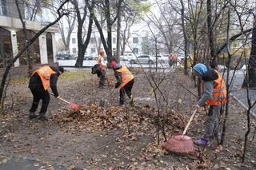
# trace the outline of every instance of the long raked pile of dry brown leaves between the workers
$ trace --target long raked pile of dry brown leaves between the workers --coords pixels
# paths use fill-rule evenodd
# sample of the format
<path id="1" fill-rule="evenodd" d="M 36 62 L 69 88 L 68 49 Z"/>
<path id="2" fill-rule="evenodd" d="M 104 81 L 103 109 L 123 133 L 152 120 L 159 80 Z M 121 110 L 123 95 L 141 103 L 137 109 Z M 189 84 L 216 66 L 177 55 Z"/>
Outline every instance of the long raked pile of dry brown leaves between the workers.
<path id="1" fill-rule="evenodd" d="M 155 131 L 158 111 L 149 105 L 100 107 L 97 103 L 82 105 L 80 111 L 64 111 L 66 114 L 55 115 L 58 124 L 72 124 L 76 130 L 98 131 L 113 128 L 125 129 L 129 132 Z M 160 114 L 171 132 L 181 132 L 188 117 L 178 113 Z M 168 131 L 168 130 L 167 130 Z"/>

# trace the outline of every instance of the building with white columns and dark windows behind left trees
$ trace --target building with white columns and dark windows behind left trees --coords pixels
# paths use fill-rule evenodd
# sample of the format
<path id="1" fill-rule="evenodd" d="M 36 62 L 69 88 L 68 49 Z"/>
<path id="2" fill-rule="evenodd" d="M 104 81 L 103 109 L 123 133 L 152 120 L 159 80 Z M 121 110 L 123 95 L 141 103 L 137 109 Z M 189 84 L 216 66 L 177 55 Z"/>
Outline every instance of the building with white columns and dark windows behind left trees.
<path id="1" fill-rule="evenodd" d="M 25 6 L 19 4 L 22 18 L 25 18 Z M 47 23 L 25 21 L 26 34 L 33 38 Z M 51 26 L 32 45 L 30 45 L 30 59 L 32 65 L 50 64 L 56 62 L 55 33 L 58 26 Z M 25 45 L 25 36 L 22 31 L 22 22 L 18 17 L 18 10 L 14 0 L 0 0 L 0 68 L 5 68 L 8 61 Z M 19 57 L 14 66 L 27 65 L 26 53 Z"/>

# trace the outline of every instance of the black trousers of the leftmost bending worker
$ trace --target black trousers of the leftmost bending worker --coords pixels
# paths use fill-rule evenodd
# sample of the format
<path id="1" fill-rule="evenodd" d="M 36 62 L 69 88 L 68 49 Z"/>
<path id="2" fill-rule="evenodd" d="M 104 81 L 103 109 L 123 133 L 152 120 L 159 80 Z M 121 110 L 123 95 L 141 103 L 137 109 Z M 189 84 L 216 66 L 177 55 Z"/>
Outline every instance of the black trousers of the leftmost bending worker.
<path id="1" fill-rule="evenodd" d="M 42 88 L 30 88 L 30 90 L 33 94 L 33 103 L 30 109 L 30 113 L 34 113 L 38 109 L 40 99 L 42 99 L 42 108 L 40 113 L 46 113 L 50 102 L 50 95 L 48 91 Z"/>

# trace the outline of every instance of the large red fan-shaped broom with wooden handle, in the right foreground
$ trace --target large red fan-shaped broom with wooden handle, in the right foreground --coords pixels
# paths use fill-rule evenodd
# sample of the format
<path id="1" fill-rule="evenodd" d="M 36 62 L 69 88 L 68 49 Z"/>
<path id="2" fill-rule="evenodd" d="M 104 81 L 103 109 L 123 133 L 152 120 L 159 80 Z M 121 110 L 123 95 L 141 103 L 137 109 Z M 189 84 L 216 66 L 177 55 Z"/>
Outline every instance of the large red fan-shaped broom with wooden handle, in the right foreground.
<path id="1" fill-rule="evenodd" d="M 167 140 L 162 144 L 162 148 L 165 148 L 167 151 L 179 153 L 182 155 L 192 155 L 194 154 L 194 143 L 190 136 L 185 136 L 187 129 L 190 126 L 191 121 L 193 120 L 193 117 L 195 113 L 197 113 L 198 109 L 194 110 L 194 113 L 190 117 L 190 121 L 186 125 L 186 128 L 184 129 L 182 135 L 178 134 L 175 136 L 172 136 L 170 140 Z"/>

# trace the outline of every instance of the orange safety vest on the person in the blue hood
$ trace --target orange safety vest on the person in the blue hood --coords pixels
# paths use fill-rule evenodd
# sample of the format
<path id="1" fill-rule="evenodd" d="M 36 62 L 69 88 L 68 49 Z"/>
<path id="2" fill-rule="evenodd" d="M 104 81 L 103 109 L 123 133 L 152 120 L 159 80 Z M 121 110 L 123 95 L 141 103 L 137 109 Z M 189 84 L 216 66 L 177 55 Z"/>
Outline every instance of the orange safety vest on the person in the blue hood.
<path id="1" fill-rule="evenodd" d="M 218 71 L 214 71 L 218 73 Z M 212 99 L 206 101 L 206 105 L 222 105 L 226 102 L 226 83 L 220 73 L 218 73 L 218 79 L 214 82 L 217 85 L 214 87 Z"/>

